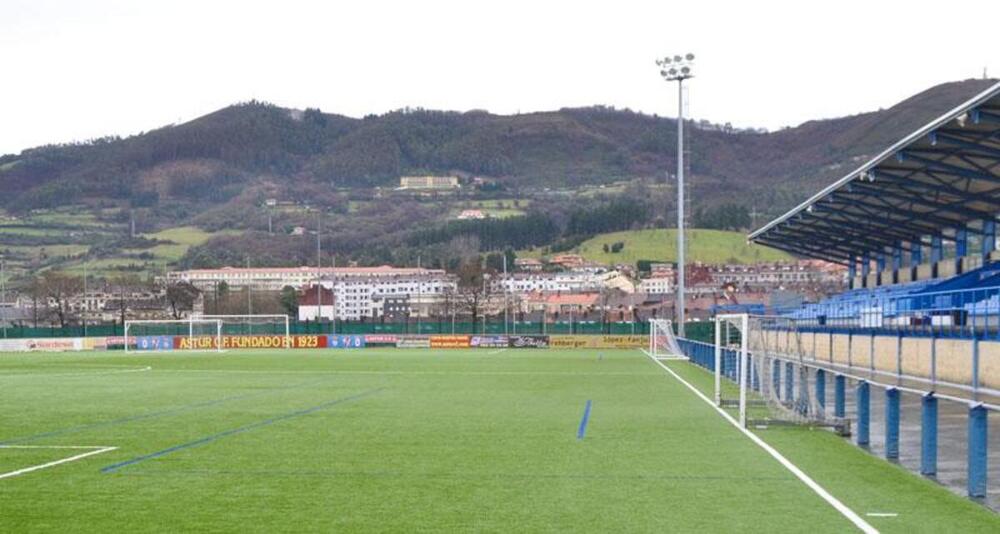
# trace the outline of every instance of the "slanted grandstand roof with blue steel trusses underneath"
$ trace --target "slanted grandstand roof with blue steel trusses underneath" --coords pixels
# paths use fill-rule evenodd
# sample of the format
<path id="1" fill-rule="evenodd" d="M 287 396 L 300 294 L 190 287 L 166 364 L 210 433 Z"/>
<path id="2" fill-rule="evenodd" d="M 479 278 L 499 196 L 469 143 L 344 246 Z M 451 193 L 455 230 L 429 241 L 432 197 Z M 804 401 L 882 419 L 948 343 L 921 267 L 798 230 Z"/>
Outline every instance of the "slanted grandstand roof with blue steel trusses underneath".
<path id="1" fill-rule="evenodd" d="M 904 137 L 749 239 L 794 254 L 850 263 L 1000 212 L 1000 83 Z"/>

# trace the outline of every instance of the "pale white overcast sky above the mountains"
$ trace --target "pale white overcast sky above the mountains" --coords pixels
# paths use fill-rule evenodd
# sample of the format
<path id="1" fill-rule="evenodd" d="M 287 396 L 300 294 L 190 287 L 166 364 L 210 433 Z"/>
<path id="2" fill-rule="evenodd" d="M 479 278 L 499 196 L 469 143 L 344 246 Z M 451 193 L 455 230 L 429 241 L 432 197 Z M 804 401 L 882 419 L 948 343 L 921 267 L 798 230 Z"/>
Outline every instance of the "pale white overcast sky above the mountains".
<path id="1" fill-rule="evenodd" d="M 753 5 L 751 5 L 753 4 Z M 0 154 L 252 98 L 350 116 L 593 104 L 780 128 L 1000 76 L 1000 2 L 0 0 Z"/>

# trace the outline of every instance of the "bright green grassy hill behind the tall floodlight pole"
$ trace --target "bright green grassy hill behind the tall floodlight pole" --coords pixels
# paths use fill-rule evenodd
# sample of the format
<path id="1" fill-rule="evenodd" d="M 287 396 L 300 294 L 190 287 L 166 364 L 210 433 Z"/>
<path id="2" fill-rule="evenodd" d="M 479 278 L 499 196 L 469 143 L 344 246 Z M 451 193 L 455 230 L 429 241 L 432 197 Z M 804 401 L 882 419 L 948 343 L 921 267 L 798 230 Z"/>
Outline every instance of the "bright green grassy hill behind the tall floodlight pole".
<path id="1" fill-rule="evenodd" d="M 780 250 L 748 244 L 746 235 L 722 230 L 693 229 L 687 232 L 687 261 L 703 263 L 754 263 L 789 260 Z M 611 252 L 616 243 L 624 244 L 620 252 Z M 607 249 L 605 248 L 607 247 Z M 633 230 L 594 236 L 572 252 L 584 258 L 608 265 L 635 265 L 639 260 L 677 261 L 676 230 Z M 542 250 L 519 252 L 518 255 L 538 257 Z"/>

